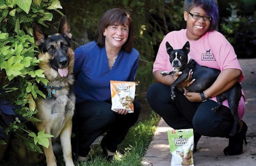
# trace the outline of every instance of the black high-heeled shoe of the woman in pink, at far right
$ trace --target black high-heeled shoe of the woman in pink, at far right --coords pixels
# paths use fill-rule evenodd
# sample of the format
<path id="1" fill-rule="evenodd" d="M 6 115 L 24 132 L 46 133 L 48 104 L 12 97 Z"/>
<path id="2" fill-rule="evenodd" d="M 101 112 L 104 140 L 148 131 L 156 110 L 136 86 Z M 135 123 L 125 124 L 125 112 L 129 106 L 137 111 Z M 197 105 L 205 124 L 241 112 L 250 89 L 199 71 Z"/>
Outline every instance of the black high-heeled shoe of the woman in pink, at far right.
<path id="1" fill-rule="evenodd" d="M 234 136 L 228 138 L 228 146 L 223 150 L 225 155 L 233 156 L 243 153 L 243 142 L 244 144 L 247 144 L 246 132 L 248 127 L 244 121 L 240 121 L 237 128 L 241 131 L 237 131 Z"/>

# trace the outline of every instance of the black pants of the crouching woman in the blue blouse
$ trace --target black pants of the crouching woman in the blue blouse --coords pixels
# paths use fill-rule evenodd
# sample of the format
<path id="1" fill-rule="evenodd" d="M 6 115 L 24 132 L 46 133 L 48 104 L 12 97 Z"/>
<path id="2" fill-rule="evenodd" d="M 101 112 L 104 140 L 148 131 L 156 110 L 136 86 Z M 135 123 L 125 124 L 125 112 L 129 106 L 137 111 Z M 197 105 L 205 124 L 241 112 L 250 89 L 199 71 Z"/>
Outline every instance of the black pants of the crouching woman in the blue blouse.
<path id="1" fill-rule="evenodd" d="M 127 115 L 111 110 L 111 102 L 76 103 L 72 130 L 76 136 L 72 138 L 72 150 L 79 156 L 87 156 L 94 140 L 106 132 L 102 141 L 109 151 L 115 152 L 129 128 L 138 120 L 140 110 L 136 98 L 134 113 Z"/>

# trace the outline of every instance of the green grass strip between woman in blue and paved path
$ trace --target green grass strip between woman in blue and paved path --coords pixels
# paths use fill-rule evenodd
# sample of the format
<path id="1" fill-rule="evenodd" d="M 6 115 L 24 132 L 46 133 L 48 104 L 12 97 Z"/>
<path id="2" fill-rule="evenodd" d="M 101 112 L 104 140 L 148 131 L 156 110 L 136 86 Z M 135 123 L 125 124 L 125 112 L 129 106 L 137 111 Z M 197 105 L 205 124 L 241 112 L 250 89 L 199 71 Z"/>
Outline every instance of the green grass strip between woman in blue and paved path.
<path id="1" fill-rule="evenodd" d="M 108 162 L 102 155 L 100 145 L 95 144 L 92 146 L 88 156 L 90 161 L 75 162 L 75 165 L 141 165 L 141 161 L 143 160 L 148 144 L 156 131 L 156 126 L 159 123 L 159 120 L 160 117 L 152 112 L 148 119 L 132 126 L 124 141 L 118 146 L 113 162 Z"/>

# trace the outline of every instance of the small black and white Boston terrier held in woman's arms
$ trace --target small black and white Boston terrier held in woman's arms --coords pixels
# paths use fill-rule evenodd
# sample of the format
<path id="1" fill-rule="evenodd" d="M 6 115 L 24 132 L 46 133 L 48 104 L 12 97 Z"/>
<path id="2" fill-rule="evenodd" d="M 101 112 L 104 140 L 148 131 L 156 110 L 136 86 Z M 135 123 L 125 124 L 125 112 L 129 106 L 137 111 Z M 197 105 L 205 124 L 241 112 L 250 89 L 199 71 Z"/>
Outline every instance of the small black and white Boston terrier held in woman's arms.
<path id="1" fill-rule="evenodd" d="M 181 82 L 188 78 L 189 70 L 192 69 L 192 79 L 195 79 L 195 82 L 193 82 L 191 86 L 186 87 L 186 90 L 189 92 L 200 93 L 202 101 L 205 102 L 207 99 L 205 98 L 205 94 L 203 92 L 205 89 L 210 87 L 217 79 L 218 75 L 220 74 L 220 70 L 200 66 L 198 63 L 196 63 L 195 60 L 189 57 L 189 49 L 189 41 L 185 43 L 182 49 L 173 49 L 170 43 L 168 43 L 168 41 L 166 42 L 166 51 L 170 56 L 170 63 L 173 66 L 173 72 L 182 72 L 182 74 L 179 75 L 179 77 L 173 82 L 172 86 L 170 87 L 171 97 L 172 100 L 175 98 L 175 87 L 177 87 L 177 85 L 179 85 Z M 163 72 L 162 74 L 173 74 L 173 72 Z M 179 91 L 181 92 L 183 91 L 183 89 L 180 89 L 178 87 L 177 89 L 179 89 Z M 237 82 L 231 89 L 225 91 L 225 93 L 223 94 L 216 96 L 218 106 L 212 108 L 212 111 L 217 111 L 218 108 L 221 106 L 221 103 L 226 99 L 228 100 L 230 111 L 234 117 L 234 126 L 230 135 L 234 135 L 237 130 L 237 123 L 239 120 L 237 115 L 237 107 L 242 95 L 241 89 L 241 84 Z"/>

